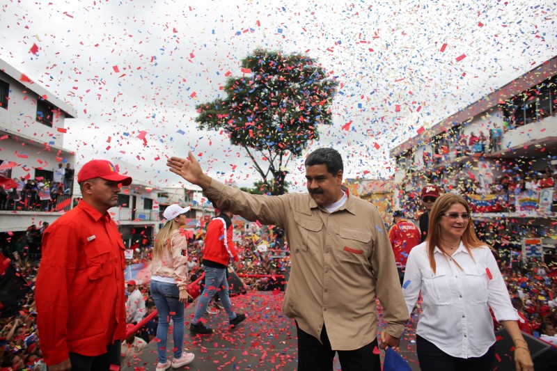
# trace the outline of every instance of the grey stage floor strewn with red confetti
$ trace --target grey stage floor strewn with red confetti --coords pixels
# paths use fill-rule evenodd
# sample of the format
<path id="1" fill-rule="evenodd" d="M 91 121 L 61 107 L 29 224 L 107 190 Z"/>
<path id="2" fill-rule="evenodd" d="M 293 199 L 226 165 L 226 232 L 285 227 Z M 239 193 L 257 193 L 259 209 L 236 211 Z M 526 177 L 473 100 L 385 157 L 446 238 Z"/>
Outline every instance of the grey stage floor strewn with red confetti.
<path id="1" fill-rule="evenodd" d="M 193 335 L 189 332 L 189 322 L 194 317 L 197 303 L 194 301 L 185 312 L 184 348 L 194 353 L 196 359 L 180 369 L 168 370 L 297 370 L 296 326 L 281 312 L 283 296 L 283 292 L 251 291 L 231 298 L 234 309 L 246 313 L 247 319 L 237 328 L 230 329 L 223 310 L 217 315 L 205 314 L 203 319 L 214 330 L 212 335 Z M 169 335 L 167 352 L 170 358 L 172 348 L 172 336 Z M 400 349 L 412 370 L 418 371 L 415 344 L 403 338 Z M 122 370 L 154 371 L 156 363 L 157 343 L 150 342 L 132 366 Z M 340 370 L 337 358 L 334 370 Z"/>

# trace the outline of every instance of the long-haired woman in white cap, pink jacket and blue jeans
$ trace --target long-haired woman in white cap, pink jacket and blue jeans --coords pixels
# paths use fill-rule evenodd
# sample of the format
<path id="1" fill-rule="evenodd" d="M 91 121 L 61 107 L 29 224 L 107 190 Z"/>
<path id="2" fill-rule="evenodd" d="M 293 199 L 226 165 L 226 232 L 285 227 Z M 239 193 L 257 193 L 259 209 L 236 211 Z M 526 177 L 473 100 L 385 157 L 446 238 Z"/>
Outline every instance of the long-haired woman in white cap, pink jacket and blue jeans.
<path id="1" fill-rule="evenodd" d="M 159 362 L 157 371 L 170 368 L 180 368 L 194 361 L 193 353 L 182 351 L 184 343 L 184 304 L 187 303 L 189 294 L 186 291 L 188 284 L 187 275 L 187 239 L 180 228 L 186 224 L 185 213 L 189 207 L 170 205 L 164 210 L 163 216 L 166 224 L 159 230 L 155 237 L 151 263 L 151 296 L 159 312 L 159 325 L 157 326 L 157 353 Z M 166 358 L 166 337 L 168 335 L 168 322 L 174 324 L 174 358 Z"/>

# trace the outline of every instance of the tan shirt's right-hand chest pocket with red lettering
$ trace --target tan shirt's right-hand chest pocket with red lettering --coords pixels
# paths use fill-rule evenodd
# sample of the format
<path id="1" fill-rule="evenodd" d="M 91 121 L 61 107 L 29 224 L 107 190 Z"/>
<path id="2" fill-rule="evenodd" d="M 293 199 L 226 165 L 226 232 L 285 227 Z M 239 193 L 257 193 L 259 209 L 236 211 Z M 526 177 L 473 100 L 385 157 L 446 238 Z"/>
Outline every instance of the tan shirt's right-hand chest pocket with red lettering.
<path id="1" fill-rule="evenodd" d="M 352 228 L 338 228 L 337 243 L 338 260 L 340 262 L 367 262 L 369 254 L 371 232 Z"/>

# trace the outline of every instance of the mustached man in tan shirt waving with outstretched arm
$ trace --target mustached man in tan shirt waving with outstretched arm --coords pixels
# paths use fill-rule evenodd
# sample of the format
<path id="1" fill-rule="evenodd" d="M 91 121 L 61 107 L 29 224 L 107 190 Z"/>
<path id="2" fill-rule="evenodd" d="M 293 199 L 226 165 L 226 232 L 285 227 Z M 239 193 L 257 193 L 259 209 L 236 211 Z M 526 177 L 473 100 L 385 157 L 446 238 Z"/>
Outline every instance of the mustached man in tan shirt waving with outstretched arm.
<path id="1" fill-rule="evenodd" d="M 283 228 L 292 267 L 283 312 L 295 319 L 299 371 L 381 370 L 377 307 L 384 308 L 382 349 L 398 348 L 409 319 L 389 235 L 377 209 L 342 186 L 343 160 L 331 148 L 305 162 L 308 193 L 251 195 L 205 175 L 194 155 L 167 166 L 219 208 Z"/>

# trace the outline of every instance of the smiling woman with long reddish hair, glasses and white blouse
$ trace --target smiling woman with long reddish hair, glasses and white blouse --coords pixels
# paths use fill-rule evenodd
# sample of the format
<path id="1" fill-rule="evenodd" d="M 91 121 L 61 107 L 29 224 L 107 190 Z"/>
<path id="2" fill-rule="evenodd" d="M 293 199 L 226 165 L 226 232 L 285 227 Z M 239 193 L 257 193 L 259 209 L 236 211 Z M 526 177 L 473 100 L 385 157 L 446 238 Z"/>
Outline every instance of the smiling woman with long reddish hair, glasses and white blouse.
<path id="1" fill-rule="evenodd" d="M 480 242 L 466 200 L 437 198 L 427 239 L 408 256 L 404 294 L 409 313 L 418 295 L 418 361 L 427 370 L 491 370 L 495 335 L 489 307 L 515 343 L 517 370 L 533 370 L 518 315 L 492 251 Z"/>

